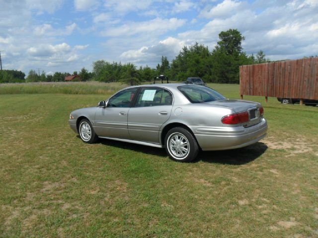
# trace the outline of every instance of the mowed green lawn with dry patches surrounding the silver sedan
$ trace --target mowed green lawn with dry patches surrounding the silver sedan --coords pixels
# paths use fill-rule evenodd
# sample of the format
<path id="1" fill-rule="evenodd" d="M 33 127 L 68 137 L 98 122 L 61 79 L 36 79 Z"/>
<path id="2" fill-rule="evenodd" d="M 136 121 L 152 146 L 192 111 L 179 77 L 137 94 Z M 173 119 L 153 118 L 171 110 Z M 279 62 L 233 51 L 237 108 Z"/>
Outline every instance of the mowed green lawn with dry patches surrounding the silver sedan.
<path id="1" fill-rule="evenodd" d="M 318 237 L 318 107 L 244 97 L 263 104 L 265 139 L 177 163 L 83 143 L 70 112 L 108 96 L 0 95 L 0 237 Z"/>

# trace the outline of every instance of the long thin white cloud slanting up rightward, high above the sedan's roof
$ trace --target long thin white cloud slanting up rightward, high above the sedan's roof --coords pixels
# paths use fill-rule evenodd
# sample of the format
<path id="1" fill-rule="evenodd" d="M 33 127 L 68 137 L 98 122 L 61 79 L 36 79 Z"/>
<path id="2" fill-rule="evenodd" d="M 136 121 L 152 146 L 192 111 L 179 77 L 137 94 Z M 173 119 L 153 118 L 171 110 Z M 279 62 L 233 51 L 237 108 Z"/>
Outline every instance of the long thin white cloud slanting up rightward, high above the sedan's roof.
<path id="1" fill-rule="evenodd" d="M 170 18 L 155 18 L 144 22 L 131 22 L 118 27 L 111 27 L 102 33 L 103 36 L 118 37 L 132 36 L 136 34 L 151 33 L 152 35 L 160 35 L 170 30 L 176 30 L 184 25 L 186 20 Z"/>

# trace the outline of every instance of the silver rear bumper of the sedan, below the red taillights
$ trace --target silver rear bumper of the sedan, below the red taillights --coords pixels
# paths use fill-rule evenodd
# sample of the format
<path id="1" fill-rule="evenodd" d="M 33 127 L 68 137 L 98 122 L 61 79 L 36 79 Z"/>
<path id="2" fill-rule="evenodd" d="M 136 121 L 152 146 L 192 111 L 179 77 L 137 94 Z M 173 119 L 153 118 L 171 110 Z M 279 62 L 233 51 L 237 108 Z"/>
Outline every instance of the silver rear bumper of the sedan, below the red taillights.
<path id="1" fill-rule="evenodd" d="M 229 150 L 254 144 L 264 138 L 267 122 L 262 119 L 260 123 L 250 127 L 190 126 L 190 128 L 203 151 Z"/>

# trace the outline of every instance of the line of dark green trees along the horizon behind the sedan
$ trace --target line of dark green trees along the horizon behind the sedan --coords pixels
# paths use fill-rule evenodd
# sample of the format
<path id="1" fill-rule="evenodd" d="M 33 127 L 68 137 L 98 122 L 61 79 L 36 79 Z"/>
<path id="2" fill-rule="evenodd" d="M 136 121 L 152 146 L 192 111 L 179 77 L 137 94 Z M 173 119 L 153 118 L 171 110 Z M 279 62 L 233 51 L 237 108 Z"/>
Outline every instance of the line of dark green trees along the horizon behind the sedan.
<path id="1" fill-rule="evenodd" d="M 72 75 L 79 75 L 81 81 L 123 82 L 131 85 L 152 81 L 161 74 L 167 76 L 169 80 L 176 81 L 183 81 L 187 77 L 201 77 L 206 82 L 239 83 L 240 65 L 269 62 L 261 50 L 255 56 L 248 56 L 243 52 L 241 43 L 244 37 L 237 29 L 222 31 L 219 38 L 220 41 L 212 51 L 198 43 L 184 46 L 171 63 L 167 57 L 162 56 L 156 68 L 149 66 L 137 68 L 133 63 L 97 60 L 93 62 L 92 72 L 82 68 L 79 73 L 75 71 Z M 22 79 L 24 73 L 21 71 L 17 72 L 22 74 L 15 72 L 14 75 L 13 72 L 6 71 L 16 70 L 2 70 L 0 82 L 24 81 L 25 75 Z M 65 77 L 70 75 L 67 72 L 47 75 L 44 71 L 39 75 L 35 70 L 30 70 L 25 82 L 59 82 L 65 81 Z"/>

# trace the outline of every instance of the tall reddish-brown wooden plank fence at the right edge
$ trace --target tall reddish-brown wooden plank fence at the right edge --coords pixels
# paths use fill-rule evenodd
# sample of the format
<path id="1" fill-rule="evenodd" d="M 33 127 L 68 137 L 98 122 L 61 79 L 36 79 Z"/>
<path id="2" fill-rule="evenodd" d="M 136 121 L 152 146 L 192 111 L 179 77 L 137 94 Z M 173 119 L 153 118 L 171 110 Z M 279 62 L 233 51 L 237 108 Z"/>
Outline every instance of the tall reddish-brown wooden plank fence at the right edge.
<path id="1" fill-rule="evenodd" d="M 318 100 L 318 58 L 239 67 L 243 95 Z"/>

